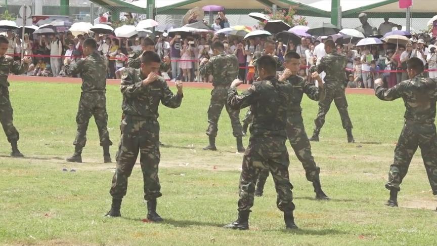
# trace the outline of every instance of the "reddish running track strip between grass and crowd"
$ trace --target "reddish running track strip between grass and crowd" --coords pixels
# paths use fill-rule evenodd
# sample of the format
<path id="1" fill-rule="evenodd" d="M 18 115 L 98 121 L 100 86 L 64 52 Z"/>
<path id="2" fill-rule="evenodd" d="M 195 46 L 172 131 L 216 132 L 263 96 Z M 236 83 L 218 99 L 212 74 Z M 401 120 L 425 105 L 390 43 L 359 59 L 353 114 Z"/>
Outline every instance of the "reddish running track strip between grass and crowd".
<path id="1" fill-rule="evenodd" d="M 69 77 L 37 77 L 37 76 L 19 76 L 11 75 L 9 76 L 9 81 L 20 81 L 20 82 L 42 82 L 42 83 L 70 83 L 70 84 L 81 84 L 82 80 L 80 78 L 69 78 Z M 120 79 L 107 79 L 108 85 L 120 85 Z M 168 82 L 169 86 L 173 86 L 173 82 Z M 206 88 L 212 89 L 211 83 L 199 83 L 199 82 L 184 82 L 184 87 L 188 88 Z M 239 88 L 247 89 L 249 85 L 241 85 Z M 363 95 L 374 95 L 373 89 L 355 89 L 346 88 L 346 94 L 363 94 Z"/>

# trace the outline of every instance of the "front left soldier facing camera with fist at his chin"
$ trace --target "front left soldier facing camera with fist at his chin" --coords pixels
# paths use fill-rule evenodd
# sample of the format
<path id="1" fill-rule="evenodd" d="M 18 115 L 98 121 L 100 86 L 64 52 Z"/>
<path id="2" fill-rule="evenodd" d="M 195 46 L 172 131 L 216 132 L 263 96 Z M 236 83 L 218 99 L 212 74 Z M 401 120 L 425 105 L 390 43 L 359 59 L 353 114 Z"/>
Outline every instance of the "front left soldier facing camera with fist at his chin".
<path id="1" fill-rule="evenodd" d="M 138 153 L 144 178 L 144 199 L 147 200 L 147 218 L 162 221 L 156 213 L 156 198 L 162 194 L 158 179 L 159 123 L 158 106 L 162 102 L 169 108 L 181 105 L 182 83 L 177 82 L 178 93 L 168 88 L 166 81 L 156 73 L 161 59 L 153 51 L 141 55 L 141 68 L 127 68 L 121 77 L 124 118 L 121 120 L 121 139 L 116 156 L 117 167 L 112 179 L 110 194 L 112 207 L 108 217 L 119 217 L 121 199 L 126 195 L 127 178 L 132 173 Z"/>

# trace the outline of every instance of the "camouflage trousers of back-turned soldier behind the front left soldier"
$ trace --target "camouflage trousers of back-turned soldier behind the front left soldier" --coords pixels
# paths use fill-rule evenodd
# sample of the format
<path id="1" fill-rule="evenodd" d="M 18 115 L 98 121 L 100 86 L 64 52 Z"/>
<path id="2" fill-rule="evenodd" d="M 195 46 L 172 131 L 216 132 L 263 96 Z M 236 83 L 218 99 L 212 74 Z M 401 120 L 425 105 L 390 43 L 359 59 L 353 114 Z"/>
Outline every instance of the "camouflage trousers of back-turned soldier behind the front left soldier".
<path id="1" fill-rule="evenodd" d="M 104 92 L 82 92 L 77 110 L 77 133 L 73 145 L 84 147 L 86 144 L 86 130 L 91 116 L 94 116 L 99 131 L 100 146 L 112 145 L 107 129 L 108 114 L 106 113 L 106 97 Z"/>

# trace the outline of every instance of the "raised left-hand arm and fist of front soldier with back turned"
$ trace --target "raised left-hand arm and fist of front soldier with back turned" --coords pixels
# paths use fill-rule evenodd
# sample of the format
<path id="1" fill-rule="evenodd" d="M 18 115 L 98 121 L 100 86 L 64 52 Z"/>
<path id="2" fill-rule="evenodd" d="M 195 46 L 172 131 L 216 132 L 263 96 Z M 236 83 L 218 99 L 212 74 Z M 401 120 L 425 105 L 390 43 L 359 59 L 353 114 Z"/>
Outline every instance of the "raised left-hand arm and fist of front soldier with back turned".
<path id="1" fill-rule="evenodd" d="M 228 91 L 228 105 L 232 109 L 241 109 L 248 107 L 253 104 L 254 99 L 256 99 L 256 88 L 252 85 L 249 89 L 238 95 L 237 87 L 243 84 L 240 79 L 235 79 L 232 82 L 231 88 Z"/>

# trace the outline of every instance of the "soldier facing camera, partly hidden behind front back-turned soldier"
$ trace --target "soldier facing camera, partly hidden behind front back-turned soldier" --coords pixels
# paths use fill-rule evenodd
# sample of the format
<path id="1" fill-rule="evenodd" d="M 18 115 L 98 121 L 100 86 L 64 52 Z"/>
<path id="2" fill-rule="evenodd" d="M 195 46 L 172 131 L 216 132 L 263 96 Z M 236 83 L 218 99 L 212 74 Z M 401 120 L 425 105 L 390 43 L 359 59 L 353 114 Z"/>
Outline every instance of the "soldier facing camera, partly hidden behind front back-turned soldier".
<path id="1" fill-rule="evenodd" d="M 322 79 L 319 74 L 315 72 L 313 77 L 319 80 L 319 88 L 314 84 L 305 81 L 301 76 L 296 75 L 299 71 L 300 56 L 294 51 L 288 52 L 285 55 L 285 67 L 284 73 L 279 80 L 286 81 L 293 87 L 291 94 L 290 106 L 287 114 L 287 137 L 290 141 L 290 145 L 294 150 L 297 158 L 302 162 L 303 169 L 307 180 L 313 183 L 314 192 L 316 193 L 316 199 L 329 199 L 323 192 L 320 184 L 320 168 L 317 167 L 314 157 L 311 154 L 311 145 L 308 140 L 305 127 L 303 126 L 302 108 L 300 102 L 302 101 L 303 94 L 314 100 L 319 101 L 325 98 L 325 89 L 322 83 Z M 264 185 L 266 184 L 267 177 L 269 177 L 268 171 L 259 173 L 259 177 L 256 184 L 255 196 L 263 195 Z"/>

